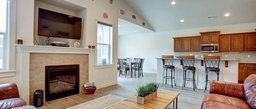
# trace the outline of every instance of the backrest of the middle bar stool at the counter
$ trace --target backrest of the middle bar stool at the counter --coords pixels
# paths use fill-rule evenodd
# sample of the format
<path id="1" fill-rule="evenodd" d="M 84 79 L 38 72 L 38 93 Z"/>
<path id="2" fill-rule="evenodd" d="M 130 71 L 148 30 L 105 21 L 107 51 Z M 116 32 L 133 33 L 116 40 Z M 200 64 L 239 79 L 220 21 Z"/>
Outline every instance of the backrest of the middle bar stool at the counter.
<path id="1" fill-rule="evenodd" d="M 195 56 L 194 55 L 182 55 L 181 56 L 181 60 L 182 60 L 182 66 L 184 67 L 194 67 L 194 63 L 195 63 Z"/>

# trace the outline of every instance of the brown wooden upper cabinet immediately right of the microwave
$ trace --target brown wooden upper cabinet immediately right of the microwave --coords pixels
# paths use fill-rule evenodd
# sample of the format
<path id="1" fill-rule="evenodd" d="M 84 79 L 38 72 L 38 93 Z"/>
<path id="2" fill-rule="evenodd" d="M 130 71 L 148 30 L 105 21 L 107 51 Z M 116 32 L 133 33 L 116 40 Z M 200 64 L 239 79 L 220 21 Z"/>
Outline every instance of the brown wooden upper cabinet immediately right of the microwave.
<path id="1" fill-rule="evenodd" d="M 219 36 L 219 52 L 229 52 L 231 50 L 230 35 Z"/>

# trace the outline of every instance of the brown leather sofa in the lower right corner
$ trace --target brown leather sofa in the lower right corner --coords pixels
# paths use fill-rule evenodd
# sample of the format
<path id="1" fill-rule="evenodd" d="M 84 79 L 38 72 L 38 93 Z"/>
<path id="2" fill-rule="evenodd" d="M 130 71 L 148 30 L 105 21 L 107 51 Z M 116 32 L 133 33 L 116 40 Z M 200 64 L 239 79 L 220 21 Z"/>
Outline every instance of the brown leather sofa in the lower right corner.
<path id="1" fill-rule="evenodd" d="M 201 109 L 256 108 L 256 74 L 249 75 L 244 84 L 211 81 L 210 93 L 203 98 Z"/>

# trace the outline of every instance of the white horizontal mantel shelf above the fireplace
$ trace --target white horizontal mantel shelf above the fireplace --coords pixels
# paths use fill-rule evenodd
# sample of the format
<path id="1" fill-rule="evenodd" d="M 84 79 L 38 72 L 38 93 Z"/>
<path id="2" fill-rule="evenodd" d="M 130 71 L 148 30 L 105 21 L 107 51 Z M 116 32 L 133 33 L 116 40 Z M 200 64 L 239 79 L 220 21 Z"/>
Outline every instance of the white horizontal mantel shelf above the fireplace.
<path id="1" fill-rule="evenodd" d="M 94 54 L 94 49 L 16 44 L 20 53 Z"/>

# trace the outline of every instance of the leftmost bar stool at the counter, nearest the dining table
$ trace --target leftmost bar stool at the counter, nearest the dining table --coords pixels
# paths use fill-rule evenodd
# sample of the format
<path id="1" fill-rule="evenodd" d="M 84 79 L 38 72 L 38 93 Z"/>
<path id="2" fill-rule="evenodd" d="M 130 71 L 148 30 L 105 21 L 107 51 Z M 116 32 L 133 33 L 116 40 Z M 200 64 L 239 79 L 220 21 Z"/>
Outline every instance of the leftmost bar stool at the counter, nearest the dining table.
<path id="1" fill-rule="evenodd" d="M 171 88 L 172 88 L 172 79 L 174 79 L 174 84 L 176 86 L 176 82 L 175 82 L 175 67 L 174 65 L 174 55 L 162 55 L 162 60 L 163 60 L 163 82 L 162 82 L 162 86 L 164 84 L 164 79 L 165 79 L 165 85 L 167 84 L 167 79 L 171 79 Z M 168 76 L 168 69 L 171 72 L 171 76 Z M 174 76 L 172 76 L 172 70 L 174 71 Z"/>

